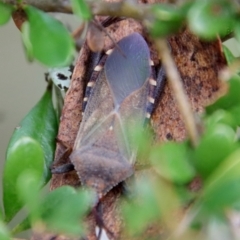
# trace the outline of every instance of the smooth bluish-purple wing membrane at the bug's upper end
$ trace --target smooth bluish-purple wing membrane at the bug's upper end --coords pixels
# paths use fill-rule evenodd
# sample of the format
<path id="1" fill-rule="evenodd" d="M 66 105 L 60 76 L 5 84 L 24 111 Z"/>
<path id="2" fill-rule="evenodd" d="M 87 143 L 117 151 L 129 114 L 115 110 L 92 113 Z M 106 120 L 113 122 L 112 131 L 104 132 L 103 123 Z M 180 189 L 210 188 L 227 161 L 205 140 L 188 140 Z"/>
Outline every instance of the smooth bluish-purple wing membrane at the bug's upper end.
<path id="1" fill-rule="evenodd" d="M 140 89 L 150 75 L 150 53 L 143 37 L 133 33 L 118 43 L 105 64 L 105 73 L 115 105 Z"/>

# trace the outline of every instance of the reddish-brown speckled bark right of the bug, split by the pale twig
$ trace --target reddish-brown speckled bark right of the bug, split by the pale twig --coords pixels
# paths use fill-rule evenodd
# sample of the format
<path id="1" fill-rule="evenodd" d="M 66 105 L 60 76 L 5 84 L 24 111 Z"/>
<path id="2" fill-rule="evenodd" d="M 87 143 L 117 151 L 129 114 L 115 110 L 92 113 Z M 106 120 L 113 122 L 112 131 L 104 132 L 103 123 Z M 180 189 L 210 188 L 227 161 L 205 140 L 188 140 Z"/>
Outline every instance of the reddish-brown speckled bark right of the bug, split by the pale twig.
<path id="1" fill-rule="evenodd" d="M 188 29 L 169 38 L 173 59 L 180 72 L 192 110 L 204 107 L 225 92 L 218 79 L 219 70 L 226 65 L 219 41 L 203 42 Z M 186 131 L 168 84 L 151 119 L 156 141 L 177 140 L 186 137 Z"/>

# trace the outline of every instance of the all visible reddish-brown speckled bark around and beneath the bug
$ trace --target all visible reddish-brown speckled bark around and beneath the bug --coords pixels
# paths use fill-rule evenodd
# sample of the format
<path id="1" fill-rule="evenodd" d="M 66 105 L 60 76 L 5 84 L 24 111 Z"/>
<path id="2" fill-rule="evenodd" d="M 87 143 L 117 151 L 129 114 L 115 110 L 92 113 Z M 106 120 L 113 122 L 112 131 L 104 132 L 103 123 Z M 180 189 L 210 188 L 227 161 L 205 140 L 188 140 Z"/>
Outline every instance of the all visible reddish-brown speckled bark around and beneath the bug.
<path id="1" fill-rule="evenodd" d="M 147 1 L 145 1 L 147 2 Z M 156 2 L 156 1 L 148 1 Z M 157 1 L 159 2 L 159 1 Z M 117 42 L 124 36 L 132 32 L 143 33 L 141 24 L 132 19 L 127 19 L 107 28 L 112 38 Z M 203 42 L 191 34 L 187 29 L 169 38 L 172 48 L 172 55 L 181 74 L 182 81 L 194 112 L 200 113 L 204 106 L 214 101 L 223 92 L 223 86 L 218 80 L 218 72 L 225 66 L 225 59 L 222 55 L 220 44 L 215 42 Z M 112 41 L 106 36 L 104 49 L 109 49 Z M 151 48 L 154 62 L 157 63 L 156 51 Z M 59 127 L 58 139 L 69 146 L 73 146 L 74 140 L 81 122 L 82 101 L 84 88 L 89 77 L 88 69 L 89 50 L 85 44 L 82 48 L 74 73 L 72 83 L 65 98 L 62 117 Z M 156 135 L 155 141 L 177 140 L 181 141 L 186 137 L 185 127 L 181 120 L 181 115 L 176 107 L 174 96 L 166 84 L 158 105 L 151 119 L 151 125 Z M 65 147 L 57 144 L 55 165 L 69 161 L 68 159 L 59 160 L 65 151 Z M 140 173 L 137 173 L 140 174 Z M 136 174 L 136 175 L 137 175 Z M 51 189 L 62 185 L 79 187 L 81 184 L 77 174 L 73 171 L 66 174 L 53 175 Z M 121 239 L 123 223 L 119 214 L 119 199 L 121 196 L 121 186 L 112 189 L 102 200 L 103 223 L 111 234 L 110 239 Z M 95 217 L 90 214 L 87 218 L 89 224 L 89 234 L 86 239 L 97 239 L 95 235 Z M 159 226 L 149 227 L 146 235 L 159 236 L 162 230 Z M 34 240 L 53 239 L 53 235 L 40 236 L 35 234 Z M 55 236 L 56 240 L 67 240 L 62 236 Z M 122 237 L 122 239 L 126 239 Z"/>

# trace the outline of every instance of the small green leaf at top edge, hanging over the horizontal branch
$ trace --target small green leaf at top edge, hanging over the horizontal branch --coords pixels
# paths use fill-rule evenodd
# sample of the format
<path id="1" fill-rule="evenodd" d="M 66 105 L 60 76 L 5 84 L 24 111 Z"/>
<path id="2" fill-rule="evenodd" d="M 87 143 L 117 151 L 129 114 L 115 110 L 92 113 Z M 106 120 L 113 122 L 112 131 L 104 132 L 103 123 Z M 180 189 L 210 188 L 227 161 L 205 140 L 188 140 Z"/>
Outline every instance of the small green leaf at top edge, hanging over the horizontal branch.
<path id="1" fill-rule="evenodd" d="M 80 19 L 89 21 L 92 19 L 90 8 L 84 0 L 71 0 L 73 12 L 80 17 Z"/>

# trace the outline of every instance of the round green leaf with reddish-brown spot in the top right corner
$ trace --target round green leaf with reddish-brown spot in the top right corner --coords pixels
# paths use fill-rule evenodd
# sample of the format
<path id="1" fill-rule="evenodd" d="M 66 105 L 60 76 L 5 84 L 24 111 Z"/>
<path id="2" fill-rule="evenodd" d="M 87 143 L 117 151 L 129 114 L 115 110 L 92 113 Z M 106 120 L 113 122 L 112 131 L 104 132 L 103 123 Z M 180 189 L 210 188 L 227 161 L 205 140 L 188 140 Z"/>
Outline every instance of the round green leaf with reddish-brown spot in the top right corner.
<path id="1" fill-rule="evenodd" d="M 228 0 L 195 1 L 188 12 L 188 24 L 193 33 L 214 39 L 232 31 L 234 14 L 233 4 Z"/>

